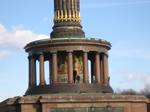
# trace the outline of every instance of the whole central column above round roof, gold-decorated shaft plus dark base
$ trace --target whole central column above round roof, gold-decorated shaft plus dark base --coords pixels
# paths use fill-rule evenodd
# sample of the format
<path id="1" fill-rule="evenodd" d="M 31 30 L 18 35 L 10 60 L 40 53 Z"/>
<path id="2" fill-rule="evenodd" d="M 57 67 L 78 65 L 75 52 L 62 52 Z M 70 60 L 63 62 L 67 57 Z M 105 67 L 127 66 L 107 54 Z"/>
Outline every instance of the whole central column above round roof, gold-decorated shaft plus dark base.
<path id="1" fill-rule="evenodd" d="M 54 0 L 54 27 L 51 38 L 85 38 L 80 23 L 80 0 Z"/>

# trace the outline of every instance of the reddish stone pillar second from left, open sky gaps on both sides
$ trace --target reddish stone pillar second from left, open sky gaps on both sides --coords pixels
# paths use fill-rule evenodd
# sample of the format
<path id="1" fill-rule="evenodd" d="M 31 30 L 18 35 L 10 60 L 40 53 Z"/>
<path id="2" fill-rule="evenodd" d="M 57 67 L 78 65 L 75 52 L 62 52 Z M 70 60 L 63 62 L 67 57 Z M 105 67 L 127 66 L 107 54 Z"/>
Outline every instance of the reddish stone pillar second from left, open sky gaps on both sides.
<path id="1" fill-rule="evenodd" d="M 40 54 L 40 85 L 45 85 L 45 76 L 44 76 L 44 55 Z"/>

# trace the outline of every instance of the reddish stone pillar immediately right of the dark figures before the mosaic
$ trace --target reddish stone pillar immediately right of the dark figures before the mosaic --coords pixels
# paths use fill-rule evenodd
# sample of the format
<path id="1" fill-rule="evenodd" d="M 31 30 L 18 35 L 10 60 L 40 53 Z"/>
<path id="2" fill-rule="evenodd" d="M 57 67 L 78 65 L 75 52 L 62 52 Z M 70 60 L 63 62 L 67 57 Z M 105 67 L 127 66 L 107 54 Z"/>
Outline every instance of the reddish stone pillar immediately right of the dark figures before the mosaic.
<path id="1" fill-rule="evenodd" d="M 88 53 L 83 53 L 83 82 L 88 83 L 89 77 L 88 77 Z"/>

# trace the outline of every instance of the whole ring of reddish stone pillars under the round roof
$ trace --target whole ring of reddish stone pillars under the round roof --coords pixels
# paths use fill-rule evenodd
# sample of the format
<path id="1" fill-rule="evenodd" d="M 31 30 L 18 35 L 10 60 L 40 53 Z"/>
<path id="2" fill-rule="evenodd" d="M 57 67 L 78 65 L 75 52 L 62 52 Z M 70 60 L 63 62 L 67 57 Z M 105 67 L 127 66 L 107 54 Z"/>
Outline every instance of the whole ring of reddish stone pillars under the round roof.
<path id="1" fill-rule="evenodd" d="M 73 52 L 67 52 L 68 57 L 68 83 L 73 83 Z M 90 55 L 90 56 L 89 56 Z M 92 56 L 91 56 L 92 55 Z M 58 75 L 57 66 L 57 52 L 49 53 L 49 74 L 50 84 L 56 84 Z M 92 58 L 89 58 L 92 57 Z M 38 55 L 30 55 L 29 59 L 29 87 L 37 86 L 36 61 L 39 61 L 39 85 L 46 85 L 45 71 L 44 71 L 44 53 Z M 107 53 L 83 52 L 83 83 L 89 83 L 89 66 L 88 60 L 91 61 L 91 83 L 98 83 L 102 85 L 108 84 L 108 55 Z"/>

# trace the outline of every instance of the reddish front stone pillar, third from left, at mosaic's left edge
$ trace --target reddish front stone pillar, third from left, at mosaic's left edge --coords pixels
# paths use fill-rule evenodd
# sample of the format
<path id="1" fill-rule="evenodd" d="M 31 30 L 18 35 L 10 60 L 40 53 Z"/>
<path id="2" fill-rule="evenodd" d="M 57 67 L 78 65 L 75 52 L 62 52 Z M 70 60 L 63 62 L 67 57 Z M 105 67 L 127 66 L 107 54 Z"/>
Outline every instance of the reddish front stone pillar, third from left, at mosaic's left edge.
<path id="1" fill-rule="evenodd" d="M 57 83 L 57 52 L 52 53 L 52 82 Z"/>

